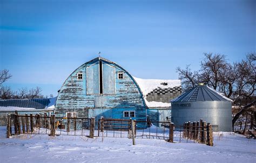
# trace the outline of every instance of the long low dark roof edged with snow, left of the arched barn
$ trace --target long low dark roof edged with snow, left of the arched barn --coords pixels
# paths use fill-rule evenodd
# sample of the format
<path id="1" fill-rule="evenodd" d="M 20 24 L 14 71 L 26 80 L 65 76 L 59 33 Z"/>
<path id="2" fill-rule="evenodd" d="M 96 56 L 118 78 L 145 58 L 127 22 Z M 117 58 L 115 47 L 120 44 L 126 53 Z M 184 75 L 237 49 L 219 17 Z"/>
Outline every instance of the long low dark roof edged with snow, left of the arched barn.
<path id="1" fill-rule="evenodd" d="M 0 110 L 53 109 L 57 97 L 42 99 L 8 99 L 0 100 Z"/>

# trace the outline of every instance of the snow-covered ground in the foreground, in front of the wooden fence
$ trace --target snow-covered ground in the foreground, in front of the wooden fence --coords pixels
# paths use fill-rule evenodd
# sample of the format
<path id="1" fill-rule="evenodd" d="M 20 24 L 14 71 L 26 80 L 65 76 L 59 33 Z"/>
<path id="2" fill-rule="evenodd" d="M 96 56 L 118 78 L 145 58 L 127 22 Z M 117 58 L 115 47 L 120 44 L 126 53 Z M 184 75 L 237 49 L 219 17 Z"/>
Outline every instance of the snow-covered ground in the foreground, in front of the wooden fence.
<path id="1" fill-rule="evenodd" d="M 255 162 L 256 140 L 214 133 L 214 146 L 156 139 L 21 134 L 6 139 L 0 127 L 0 162 Z M 223 135 L 221 135 L 223 134 Z"/>

